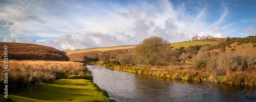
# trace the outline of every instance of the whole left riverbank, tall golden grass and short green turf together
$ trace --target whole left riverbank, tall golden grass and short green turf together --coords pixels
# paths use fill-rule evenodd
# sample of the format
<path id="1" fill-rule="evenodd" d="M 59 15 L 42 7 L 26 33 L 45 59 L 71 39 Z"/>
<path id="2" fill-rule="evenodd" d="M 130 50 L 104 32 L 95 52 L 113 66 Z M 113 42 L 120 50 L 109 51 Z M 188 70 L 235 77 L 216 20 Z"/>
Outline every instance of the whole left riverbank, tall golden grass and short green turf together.
<path id="1" fill-rule="evenodd" d="M 80 62 L 10 60 L 8 70 L 8 84 L 0 72 L 1 93 L 8 85 L 8 98 L 14 101 L 114 101 L 92 82 L 91 71 Z"/>

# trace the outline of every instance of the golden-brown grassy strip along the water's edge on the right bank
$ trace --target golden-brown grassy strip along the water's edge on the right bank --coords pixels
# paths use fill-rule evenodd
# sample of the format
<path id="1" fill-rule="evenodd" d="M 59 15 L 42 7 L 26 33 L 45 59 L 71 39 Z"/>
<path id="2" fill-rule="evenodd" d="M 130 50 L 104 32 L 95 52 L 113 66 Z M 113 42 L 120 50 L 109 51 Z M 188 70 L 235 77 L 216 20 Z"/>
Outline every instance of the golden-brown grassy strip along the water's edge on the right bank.
<path id="1" fill-rule="evenodd" d="M 162 78 L 172 78 L 187 81 L 204 81 L 210 83 L 237 84 L 256 86 L 256 74 L 248 71 L 230 72 L 228 75 L 215 75 L 206 68 L 198 69 L 189 63 L 173 63 L 169 66 L 114 66 L 107 67 L 104 64 L 94 65 L 108 69 L 121 70 L 139 74 L 154 75 Z M 255 72 L 252 70 L 252 72 Z"/>

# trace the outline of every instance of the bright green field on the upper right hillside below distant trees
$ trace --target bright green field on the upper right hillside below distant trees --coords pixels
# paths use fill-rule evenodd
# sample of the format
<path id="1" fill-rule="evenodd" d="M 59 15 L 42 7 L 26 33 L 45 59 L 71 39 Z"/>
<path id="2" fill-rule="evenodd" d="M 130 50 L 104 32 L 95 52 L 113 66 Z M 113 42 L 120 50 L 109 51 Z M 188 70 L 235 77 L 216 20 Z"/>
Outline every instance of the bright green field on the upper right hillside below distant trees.
<path id="1" fill-rule="evenodd" d="M 180 48 L 180 47 L 189 47 L 189 46 L 195 46 L 195 45 L 216 45 L 218 42 L 217 41 L 186 41 L 186 42 L 176 42 L 172 43 L 172 46 L 175 48 Z"/>

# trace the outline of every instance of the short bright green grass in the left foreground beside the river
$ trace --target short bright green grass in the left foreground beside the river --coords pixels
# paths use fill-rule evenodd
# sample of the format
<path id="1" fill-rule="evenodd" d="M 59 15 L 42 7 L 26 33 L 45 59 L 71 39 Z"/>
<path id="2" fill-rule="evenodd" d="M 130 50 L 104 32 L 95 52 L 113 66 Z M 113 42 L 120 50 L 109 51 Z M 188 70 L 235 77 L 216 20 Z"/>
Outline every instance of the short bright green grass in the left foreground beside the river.
<path id="1" fill-rule="evenodd" d="M 87 84 L 88 86 L 76 86 Z M 115 101 L 103 95 L 104 92 L 92 81 L 84 79 L 61 79 L 50 84 L 41 84 L 29 91 L 23 88 L 9 93 L 13 101 Z M 5 99 L 3 94 L 1 94 Z"/>

